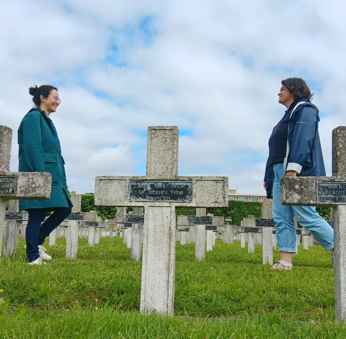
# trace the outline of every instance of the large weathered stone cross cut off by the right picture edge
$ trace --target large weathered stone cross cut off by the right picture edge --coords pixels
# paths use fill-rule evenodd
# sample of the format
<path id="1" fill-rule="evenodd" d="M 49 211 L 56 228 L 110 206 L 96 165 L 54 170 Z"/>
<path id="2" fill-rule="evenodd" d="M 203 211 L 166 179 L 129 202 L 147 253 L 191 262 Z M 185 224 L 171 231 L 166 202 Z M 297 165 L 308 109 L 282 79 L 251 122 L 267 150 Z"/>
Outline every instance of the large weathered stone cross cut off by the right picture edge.
<path id="1" fill-rule="evenodd" d="M 334 217 L 335 312 L 346 320 L 346 127 L 333 130 L 331 177 L 285 177 L 281 203 L 298 206 L 330 206 Z"/>

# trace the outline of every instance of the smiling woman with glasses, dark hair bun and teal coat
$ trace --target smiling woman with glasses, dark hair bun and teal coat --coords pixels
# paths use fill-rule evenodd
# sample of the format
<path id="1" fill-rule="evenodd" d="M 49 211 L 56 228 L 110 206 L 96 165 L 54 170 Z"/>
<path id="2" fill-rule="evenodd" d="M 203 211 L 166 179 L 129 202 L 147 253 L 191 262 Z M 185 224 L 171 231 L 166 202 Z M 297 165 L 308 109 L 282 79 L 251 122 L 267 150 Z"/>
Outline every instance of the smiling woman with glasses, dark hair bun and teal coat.
<path id="1" fill-rule="evenodd" d="M 44 239 L 70 215 L 72 202 L 66 188 L 60 141 L 49 118 L 61 103 L 57 88 L 30 87 L 35 108 L 23 118 L 18 129 L 19 172 L 48 172 L 52 175 L 49 200 L 20 200 L 19 210 L 29 212 L 26 226 L 27 263 L 42 265 L 51 260 L 42 246 Z M 47 212 L 53 212 L 45 221 Z"/>

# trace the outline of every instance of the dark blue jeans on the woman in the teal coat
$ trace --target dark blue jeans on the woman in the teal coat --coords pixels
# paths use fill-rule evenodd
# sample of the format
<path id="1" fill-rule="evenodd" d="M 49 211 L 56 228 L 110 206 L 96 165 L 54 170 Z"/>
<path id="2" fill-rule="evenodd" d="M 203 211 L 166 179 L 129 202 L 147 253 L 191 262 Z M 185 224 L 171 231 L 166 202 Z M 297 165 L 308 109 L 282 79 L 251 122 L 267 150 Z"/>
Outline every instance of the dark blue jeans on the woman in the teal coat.
<path id="1" fill-rule="evenodd" d="M 26 226 L 26 255 L 27 262 L 33 262 L 40 258 L 39 245 L 72 211 L 71 207 L 56 207 L 54 212 L 44 221 L 47 212 L 52 208 L 33 208 L 28 210 L 29 221 Z M 42 224 L 42 225 L 41 225 Z"/>

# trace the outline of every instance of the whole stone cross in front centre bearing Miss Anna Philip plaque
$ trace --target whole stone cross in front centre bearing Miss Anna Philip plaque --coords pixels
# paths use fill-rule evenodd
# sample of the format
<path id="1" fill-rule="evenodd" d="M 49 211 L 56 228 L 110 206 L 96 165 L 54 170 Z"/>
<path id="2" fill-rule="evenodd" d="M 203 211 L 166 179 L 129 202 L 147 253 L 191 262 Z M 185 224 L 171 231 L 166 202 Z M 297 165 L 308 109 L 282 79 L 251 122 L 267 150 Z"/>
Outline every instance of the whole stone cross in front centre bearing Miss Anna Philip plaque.
<path id="1" fill-rule="evenodd" d="M 173 314 L 175 207 L 228 204 L 227 177 L 178 176 L 179 131 L 148 127 L 146 176 L 95 179 L 95 205 L 144 207 L 140 311 Z"/>

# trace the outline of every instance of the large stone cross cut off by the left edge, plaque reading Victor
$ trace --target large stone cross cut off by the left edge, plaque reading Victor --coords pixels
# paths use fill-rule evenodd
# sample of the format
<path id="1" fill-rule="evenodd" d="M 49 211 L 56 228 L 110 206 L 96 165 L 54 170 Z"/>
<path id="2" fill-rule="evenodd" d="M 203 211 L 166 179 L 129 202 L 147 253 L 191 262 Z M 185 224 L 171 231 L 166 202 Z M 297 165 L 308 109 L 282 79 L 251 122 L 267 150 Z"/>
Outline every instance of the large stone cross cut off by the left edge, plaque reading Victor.
<path id="1" fill-rule="evenodd" d="M 6 199 L 49 199 L 51 174 L 10 172 L 12 129 L 0 126 L 0 228 L 5 219 Z"/>

